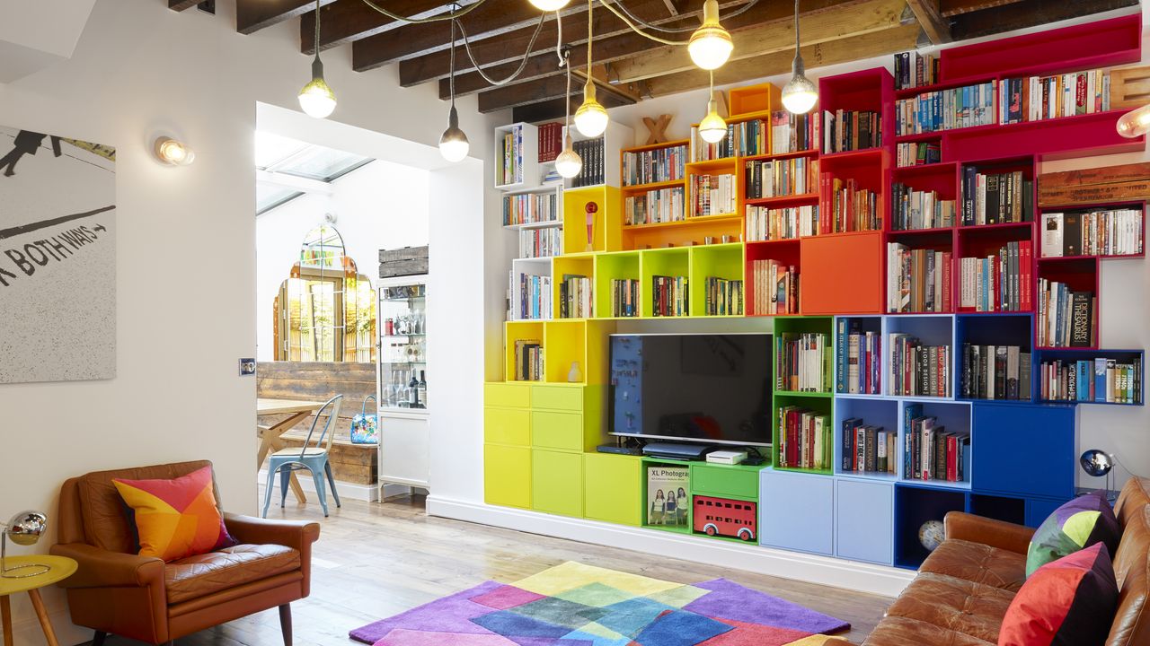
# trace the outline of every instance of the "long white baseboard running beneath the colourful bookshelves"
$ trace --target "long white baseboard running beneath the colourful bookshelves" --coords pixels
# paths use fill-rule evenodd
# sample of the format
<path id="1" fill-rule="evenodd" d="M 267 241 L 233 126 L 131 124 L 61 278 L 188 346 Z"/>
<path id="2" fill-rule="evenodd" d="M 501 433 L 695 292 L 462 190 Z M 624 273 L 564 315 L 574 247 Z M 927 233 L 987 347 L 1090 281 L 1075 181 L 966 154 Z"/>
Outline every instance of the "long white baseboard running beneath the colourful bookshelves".
<path id="1" fill-rule="evenodd" d="M 897 597 L 914 578 L 914 572 L 802 554 L 770 547 L 739 545 L 706 537 L 672 535 L 598 521 L 552 516 L 538 512 L 494 507 L 466 500 L 429 495 L 428 514 L 458 521 L 482 523 L 530 533 L 553 536 L 621 547 L 645 554 L 659 554 L 737 570 L 805 580 L 858 592 Z"/>

